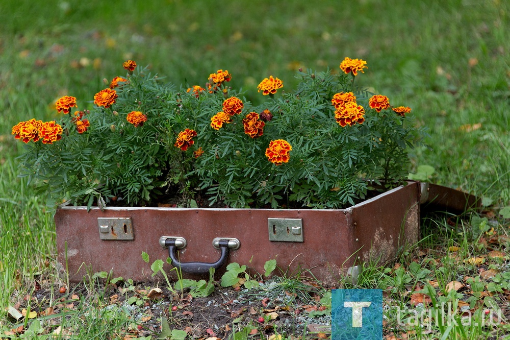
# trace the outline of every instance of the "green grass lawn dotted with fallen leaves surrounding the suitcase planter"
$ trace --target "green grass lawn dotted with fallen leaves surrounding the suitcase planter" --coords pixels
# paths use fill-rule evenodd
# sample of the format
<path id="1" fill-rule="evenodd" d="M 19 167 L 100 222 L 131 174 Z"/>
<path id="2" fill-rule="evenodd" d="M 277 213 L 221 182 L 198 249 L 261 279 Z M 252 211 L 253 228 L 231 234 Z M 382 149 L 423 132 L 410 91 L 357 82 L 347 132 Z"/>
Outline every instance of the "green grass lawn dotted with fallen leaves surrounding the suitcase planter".
<path id="1" fill-rule="evenodd" d="M 175 84 L 203 85 L 212 72 L 228 69 L 232 86 L 242 87 L 254 103 L 257 84 L 269 75 L 293 88 L 299 67 L 338 70 L 344 57 L 366 60 L 360 84 L 411 107 L 416 125 L 428 128 L 427 145 L 410 151 L 409 171 L 430 165 L 430 181 L 483 197 L 486 209 L 427 216 L 420 244 L 386 266 L 367 264 L 357 286 L 385 289 L 388 339 L 499 339 L 510 333 L 506 321 L 481 323 L 489 309 L 508 317 L 510 301 L 510 218 L 504 218 L 510 213 L 500 213 L 510 206 L 510 3 L 3 0 L 0 32 L 0 338 L 151 338 L 151 328 L 159 333 L 161 319 L 138 308 L 147 302 L 136 293 L 144 287 L 127 281 L 104 287 L 97 277 L 74 287 L 59 278 L 53 214 L 33 183 L 17 177 L 23 145 L 11 135 L 21 120 L 55 117 L 53 105 L 62 95 L 92 107 L 103 79 L 122 74 L 127 59 L 150 65 Z M 296 292 L 307 289 L 299 280 L 282 282 Z M 352 284 L 343 280 L 338 287 Z M 121 307 L 111 299 L 115 294 L 135 297 L 135 307 Z M 316 294 L 327 297 L 327 290 Z M 327 307 L 327 299 L 319 300 L 308 304 Z M 432 322 L 430 329 L 401 322 L 420 303 L 448 302 L 472 313 L 474 322 Z M 397 315 L 398 308 L 407 312 Z M 23 309 L 25 316 L 13 318 Z M 172 329 L 193 328 L 177 322 L 184 319 L 176 319 L 168 305 L 160 309 Z M 267 331 L 241 319 L 218 324 L 218 334 L 319 337 L 283 323 Z M 264 323 L 274 326 L 269 319 Z"/>

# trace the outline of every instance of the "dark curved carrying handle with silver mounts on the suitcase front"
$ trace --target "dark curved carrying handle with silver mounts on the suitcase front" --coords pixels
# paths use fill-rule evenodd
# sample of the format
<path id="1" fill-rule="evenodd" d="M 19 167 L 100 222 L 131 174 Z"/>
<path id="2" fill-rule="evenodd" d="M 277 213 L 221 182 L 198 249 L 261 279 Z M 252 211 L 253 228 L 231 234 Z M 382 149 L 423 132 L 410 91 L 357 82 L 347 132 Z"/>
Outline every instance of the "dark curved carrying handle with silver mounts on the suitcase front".
<path id="1" fill-rule="evenodd" d="M 221 250 L 220 258 L 213 263 L 208 262 L 181 262 L 177 260 L 175 257 L 175 250 L 186 247 L 186 240 L 184 240 L 183 247 L 183 238 L 182 237 L 168 237 L 164 239 L 164 242 L 160 240 L 161 246 L 168 247 L 168 255 L 172 260 L 172 265 L 176 268 L 179 268 L 181 271 L 189 274 L 207 274 L 209 273 L 210 268 L 218 269 L 223 265 L 227 256 L 229 249 L 238 249 L 240 244 L 239 240 L 236 238 L 220 238 L 217 237 L 213 240 L 213 246 L 216 249 Z"/>

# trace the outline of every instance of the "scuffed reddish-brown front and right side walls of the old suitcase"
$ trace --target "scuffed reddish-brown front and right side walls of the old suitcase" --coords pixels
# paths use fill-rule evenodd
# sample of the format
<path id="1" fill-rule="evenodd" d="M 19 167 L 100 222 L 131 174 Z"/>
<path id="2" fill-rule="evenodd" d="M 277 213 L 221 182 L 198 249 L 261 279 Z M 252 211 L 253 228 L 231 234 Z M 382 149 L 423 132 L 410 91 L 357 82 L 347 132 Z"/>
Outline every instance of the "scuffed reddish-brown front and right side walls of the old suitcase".
<path id="1" fill-rule="evenodd" d="M 311 269 L 318 279 L 334 284 L 351 266 L 369 259 L 389 260 L 401 246 L 418 240 L 420 195 L 420 183 L 412 182 L 341 210 L 92 208 L 87 212 L 85 207 L 63 207 L 55 214 L 58 261 L 74 282 L 87 271 L 112 271 L 113 277 L 140 281 L 151 277 L 154 260 L 166 260 L 169 255 L 160 245 L 162 236 L 185 239 L 186 247 L 177 253 L 181 262 L 215 262 L 220 251 L 213 247 L 213 239 L 231 237 L 240 246 L 228 254 L 229 263 L 246 264 L 263 273 L 264 263 L 274 258 L 279 268 Z M 101 233 L 108 233 L 105 217 L 130 221 L 132 231 L 129 224 L 117 222 L 114 234 L 125 228 L 133 239 L 131 235 L 101 239 Z M 274 218 L 300 223 L 279 225 L 280 220 L 268 220 Z M 282 237 L 276 232 L 288 232 L 292 240 L 274 240 Z M 143 261 L 142 252 L 149 255 L 149 263 Z M 166 270 L 170 269 L 167 264 Z"/>

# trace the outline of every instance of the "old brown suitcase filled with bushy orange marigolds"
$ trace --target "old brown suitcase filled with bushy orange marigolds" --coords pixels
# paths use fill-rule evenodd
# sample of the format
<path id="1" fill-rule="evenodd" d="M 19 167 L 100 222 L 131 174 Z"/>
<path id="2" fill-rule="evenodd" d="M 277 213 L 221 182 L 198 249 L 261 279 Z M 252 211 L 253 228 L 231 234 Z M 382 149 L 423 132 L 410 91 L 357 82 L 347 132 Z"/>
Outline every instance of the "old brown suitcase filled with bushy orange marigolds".
<path id="1" fill-rule="evenodd" d="M 14 126 L 27 147 L 24 173 L 54 206 L 68 204 L 55 215 L 62 269 L 71 281 L 96 272 L 145 280 L 145 252 L 170 257 L 184 275 L 227 262 L 261 272 L 276 259 L 334 282 L 416 242 L 420 201 L 433 195 L 418 182 L 398 185 L 420 130 L 411 108 L 355 85 L 366 64 L 300 69 L 294 91 L 269 76 L 251 89 L 257 104 L 228 86 L 227 70 L 205 87 L 176 87 L 128 60 L 125 78 L 96 93 L 90 111 L 65 95 L 58 122 Z M 143 207 L 172 200 L 192 208 Z M 236 209 L 193 208 L 210 205 Z"/>

